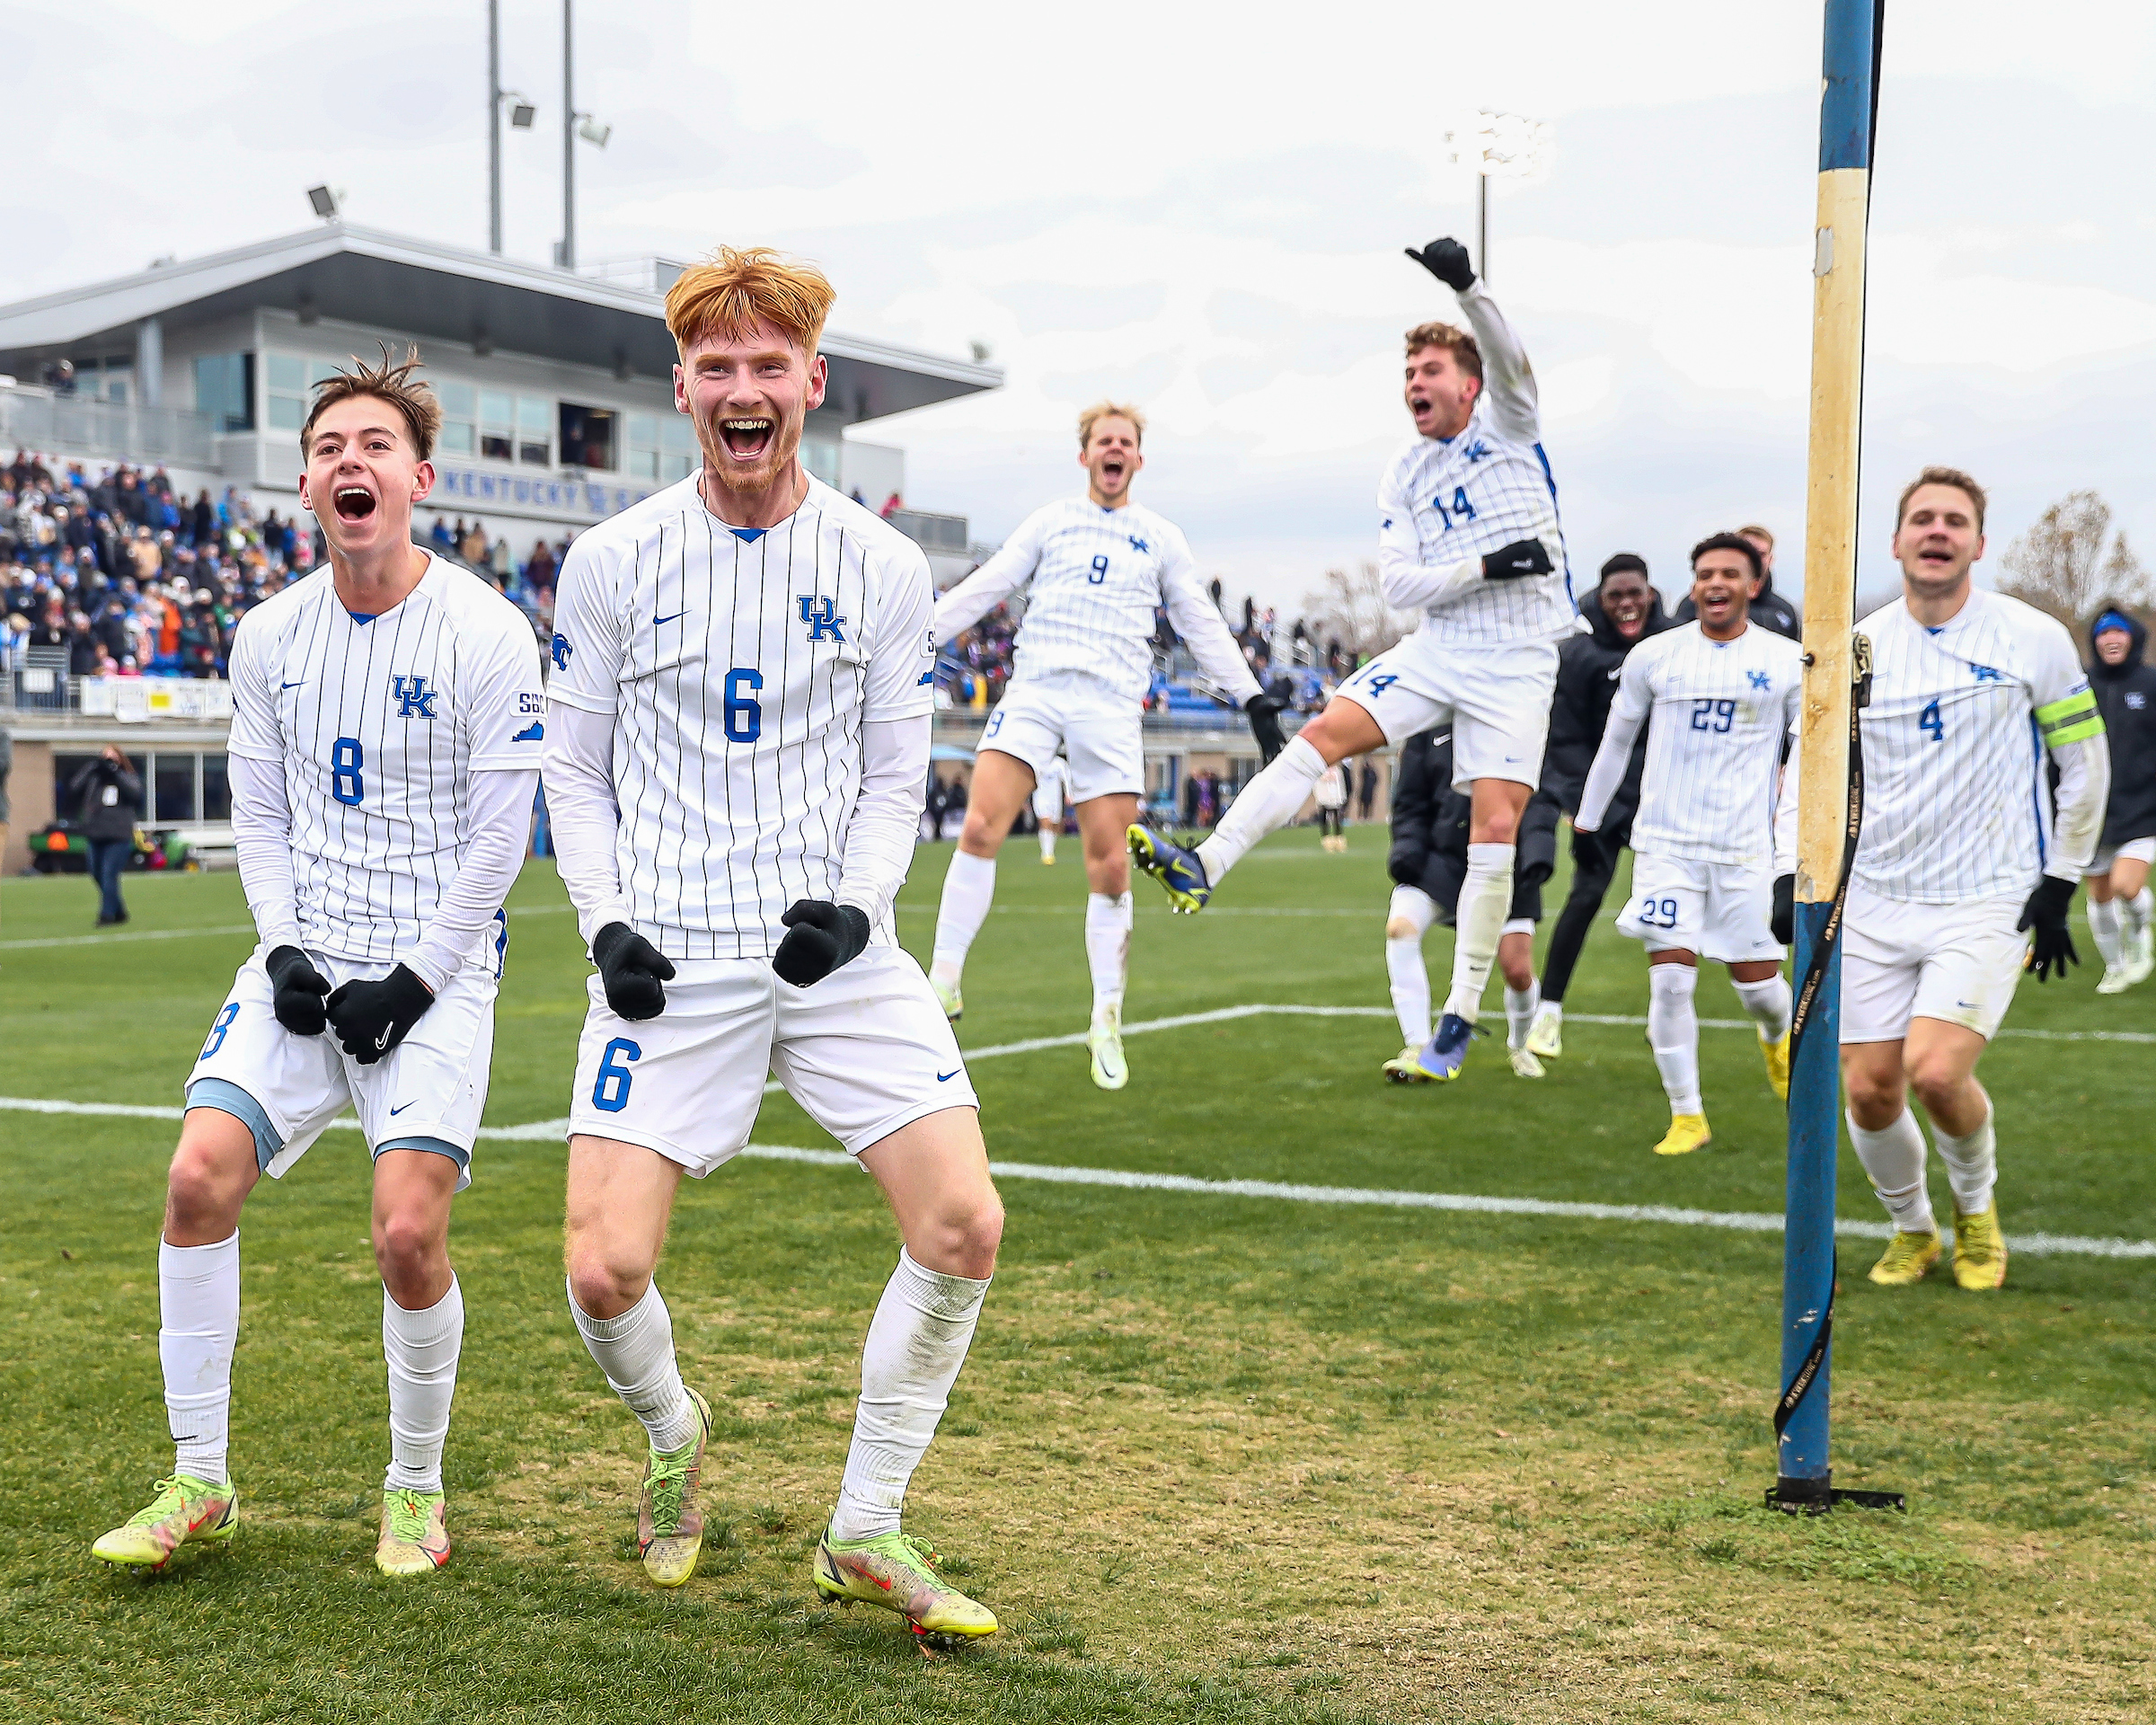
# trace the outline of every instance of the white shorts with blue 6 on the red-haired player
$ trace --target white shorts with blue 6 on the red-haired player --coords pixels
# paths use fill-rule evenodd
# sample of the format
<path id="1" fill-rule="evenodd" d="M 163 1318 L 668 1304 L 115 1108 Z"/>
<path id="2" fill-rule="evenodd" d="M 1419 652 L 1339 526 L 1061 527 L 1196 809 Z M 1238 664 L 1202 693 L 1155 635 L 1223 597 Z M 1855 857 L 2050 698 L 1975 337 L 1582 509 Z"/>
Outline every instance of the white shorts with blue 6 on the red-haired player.
<path id="1" fill-rule="evenodd" d="M 770 960 L 675 960 L 666 1011 L 630 1022 L 589 981 L 569 1136 L 655 1149 L 699 1179 L 731 1158 L 776 1078 L 854 1156 L 942 1108 L 979 1108 L 951 1022 L 901 947 L 869 947 L 813 988 Z"/>

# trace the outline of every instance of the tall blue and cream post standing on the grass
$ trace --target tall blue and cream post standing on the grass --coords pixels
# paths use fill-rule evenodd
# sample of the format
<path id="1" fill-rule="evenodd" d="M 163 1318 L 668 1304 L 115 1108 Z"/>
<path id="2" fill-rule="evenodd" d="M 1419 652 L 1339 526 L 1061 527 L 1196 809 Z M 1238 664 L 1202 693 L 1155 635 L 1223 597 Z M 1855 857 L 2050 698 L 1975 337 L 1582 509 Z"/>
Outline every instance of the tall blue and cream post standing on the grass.
<path id="1" fill-rule="evenodd" d="M 1789 1184 L 1783 1231 L 1781 1509 L 1833 1507 L 1828 1339 L 1835 1311 L 1835 1158 L 1841 1143 L 1843 852 L 1850 798 L 1850 673 L 1856 602 L 1856 455 L 1865 375 L 1865 220 L 1887 0 L 1826 0 L 1820 97 L 1820 224 L 1813 237 L 1811 459 L 1805 507 L 1805 701 L 1798 783 L 1798 1035 L 1789 1063 Z"/>

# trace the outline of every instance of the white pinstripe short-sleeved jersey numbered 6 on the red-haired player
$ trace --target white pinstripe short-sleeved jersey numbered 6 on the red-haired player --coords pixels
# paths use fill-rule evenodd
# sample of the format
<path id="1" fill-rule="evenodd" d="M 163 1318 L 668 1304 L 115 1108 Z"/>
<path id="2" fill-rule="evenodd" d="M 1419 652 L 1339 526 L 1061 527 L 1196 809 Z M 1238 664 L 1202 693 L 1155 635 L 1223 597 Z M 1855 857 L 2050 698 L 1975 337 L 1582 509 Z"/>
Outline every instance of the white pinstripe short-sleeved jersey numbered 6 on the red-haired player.
<path id="1" fill-rule="evenodd" d="M 778 526 L 729 528 L 696 474 L 569 546 L 552 701 L 614 716 L 614 858 L 668 957 L 770 957 L 796 899 L 834 899 L 860 727 L 929 722 L 929 565 L 817 479 Z"/>

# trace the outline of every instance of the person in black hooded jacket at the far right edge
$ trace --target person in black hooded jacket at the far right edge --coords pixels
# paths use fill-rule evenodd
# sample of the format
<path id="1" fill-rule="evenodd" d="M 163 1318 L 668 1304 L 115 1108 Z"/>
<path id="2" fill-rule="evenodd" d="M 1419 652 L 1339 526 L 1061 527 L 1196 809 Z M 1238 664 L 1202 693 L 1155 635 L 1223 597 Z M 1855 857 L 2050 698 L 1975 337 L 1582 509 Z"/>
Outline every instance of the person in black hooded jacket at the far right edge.
<path id="1" fill-rule="evenodd" d="M 2098 994 L 2124 994 L 2156 970 L 2150 862 L 2156 862 L 2156 668 L 2143 664 L 2147 630 L 2104 604 L 2089 625 L 2089 686 L 2111 740 L 2111 802 L 2089 860 L 2089 934 L 2104 955 Z"/>

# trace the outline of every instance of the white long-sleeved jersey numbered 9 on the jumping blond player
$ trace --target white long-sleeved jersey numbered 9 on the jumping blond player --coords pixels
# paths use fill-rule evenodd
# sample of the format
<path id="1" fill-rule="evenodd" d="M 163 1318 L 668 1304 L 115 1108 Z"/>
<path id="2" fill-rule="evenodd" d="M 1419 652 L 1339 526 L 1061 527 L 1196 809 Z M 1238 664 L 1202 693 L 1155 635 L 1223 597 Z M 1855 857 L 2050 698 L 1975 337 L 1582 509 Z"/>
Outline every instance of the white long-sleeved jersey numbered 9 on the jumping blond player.
<path id="1" fill-rule="evenodd" d="M 1184 530 L 1143 505 L 1065 498 L 1035 509 L 1003 550 L 942 595 L 936 638 L 955 638 L 1020 591 L 1026 615 L 1013 679 L 1074 671 L 1143 701 L 1153 681 L 1153 610 L 1166 606 L 1207 679 L 1238 705 L 1257 694 Z"/>

